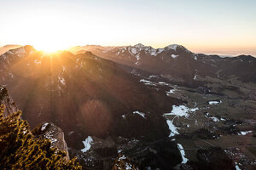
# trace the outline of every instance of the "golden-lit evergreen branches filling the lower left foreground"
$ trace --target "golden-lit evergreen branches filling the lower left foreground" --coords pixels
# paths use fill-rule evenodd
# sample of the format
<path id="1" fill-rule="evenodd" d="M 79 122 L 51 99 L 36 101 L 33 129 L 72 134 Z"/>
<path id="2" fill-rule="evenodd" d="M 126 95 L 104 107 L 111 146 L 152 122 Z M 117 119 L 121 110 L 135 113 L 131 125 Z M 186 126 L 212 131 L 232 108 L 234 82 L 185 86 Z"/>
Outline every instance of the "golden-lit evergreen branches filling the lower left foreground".
<path id="1" fill-rule="evenodd" d="M 3 117 L 0 107 L 0 169 L 82 169 L 66 152 L 52 148 L 49 139 L 37 139 L 21 111 Z"/>

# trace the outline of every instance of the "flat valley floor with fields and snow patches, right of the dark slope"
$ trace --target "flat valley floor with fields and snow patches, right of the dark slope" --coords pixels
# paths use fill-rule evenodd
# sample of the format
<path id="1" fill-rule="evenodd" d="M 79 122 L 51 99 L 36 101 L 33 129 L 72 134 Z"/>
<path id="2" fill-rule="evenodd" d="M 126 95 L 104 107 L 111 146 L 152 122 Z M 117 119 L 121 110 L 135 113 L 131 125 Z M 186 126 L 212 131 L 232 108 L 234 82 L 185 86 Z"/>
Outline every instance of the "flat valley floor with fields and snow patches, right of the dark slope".
<path id="1" fill-rule="evenodd" d="M 197 77 L 196 81 L 206 82 L 203 89 L 179 87 L 156 75 L 142 78 L 141 82 L 147 86 L 186 101 L 183 107 L 173 107 L 172 114 L 165 114 L 172 123 L 170 137 L 182 144 L 186 159 L 197 161 L 196 150 L 220 147 L 236 161 L 236 166 L 253 169 L 251 165 L 256 163 L 253 84 Z"/>

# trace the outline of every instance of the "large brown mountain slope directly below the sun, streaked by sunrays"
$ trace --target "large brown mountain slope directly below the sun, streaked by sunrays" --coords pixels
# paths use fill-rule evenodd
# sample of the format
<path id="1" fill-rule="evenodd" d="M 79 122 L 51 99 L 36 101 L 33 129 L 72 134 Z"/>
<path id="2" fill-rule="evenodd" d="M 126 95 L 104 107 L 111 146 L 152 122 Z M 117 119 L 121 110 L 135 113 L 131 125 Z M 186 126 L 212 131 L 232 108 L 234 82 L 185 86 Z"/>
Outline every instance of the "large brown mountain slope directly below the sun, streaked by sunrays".
<path id="1" fill-rule="evenodd" d="M 3 54 L 0 67 L 1 83 L 23 118 L 32 127 L 54 122 L 71 134 L 67 143 L 76 148 L 83 147 L 78 141 L 87 135 L 160 139 L 169 134 L 162 113 L 178 101 L 146 88 L 112 61 L 91 53 L 44 54 L 25 46 Z"/>

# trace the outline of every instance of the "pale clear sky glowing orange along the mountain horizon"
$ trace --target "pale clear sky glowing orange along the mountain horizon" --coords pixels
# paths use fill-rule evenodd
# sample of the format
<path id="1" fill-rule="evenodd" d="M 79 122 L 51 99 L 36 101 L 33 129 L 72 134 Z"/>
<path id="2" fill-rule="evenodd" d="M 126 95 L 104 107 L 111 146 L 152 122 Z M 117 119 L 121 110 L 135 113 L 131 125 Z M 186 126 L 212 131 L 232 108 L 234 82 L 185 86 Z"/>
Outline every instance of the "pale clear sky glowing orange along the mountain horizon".
<path id="1" fill-rule="evenodd" d="M 0 46 L 163 48 L 256 55 L 255 0 L 0 0 Z"/>

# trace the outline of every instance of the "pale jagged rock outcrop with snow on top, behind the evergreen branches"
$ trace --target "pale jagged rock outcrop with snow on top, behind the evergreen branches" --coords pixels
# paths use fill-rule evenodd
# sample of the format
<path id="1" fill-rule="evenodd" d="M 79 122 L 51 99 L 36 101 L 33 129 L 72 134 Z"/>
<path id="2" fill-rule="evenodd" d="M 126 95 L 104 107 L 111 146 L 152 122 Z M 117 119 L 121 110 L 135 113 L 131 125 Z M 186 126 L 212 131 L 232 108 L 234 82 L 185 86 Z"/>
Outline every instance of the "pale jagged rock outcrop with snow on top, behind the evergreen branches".
<path id="1" fill-rule="evenodd" d="M 67 143 L 64 139 L 64 133 L 60 127 L 55 126 L 55 124 L 52 122 L 44 122 L 35 127 L 32 130 L 32 133 L 36 137 L 49 139 L 51 142 L 51 147 L 65 151 L 67 153 L 67 160 L 69 160 Z"/>

